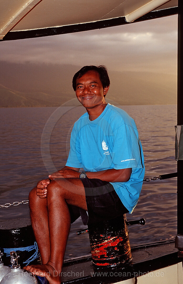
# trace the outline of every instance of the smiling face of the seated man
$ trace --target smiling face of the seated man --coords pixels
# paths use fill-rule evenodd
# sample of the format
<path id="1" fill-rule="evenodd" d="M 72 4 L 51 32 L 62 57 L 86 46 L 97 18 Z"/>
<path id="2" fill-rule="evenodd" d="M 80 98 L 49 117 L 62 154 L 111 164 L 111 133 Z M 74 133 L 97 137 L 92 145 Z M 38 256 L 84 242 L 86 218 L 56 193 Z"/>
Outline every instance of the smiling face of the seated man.
<path id="1" fill-rule="evenodd" d="M 103 88 L 98 72 L 91 70 L 76 80 L 76 97 L 85 108 L 105 103 L 109 87 Z"/>

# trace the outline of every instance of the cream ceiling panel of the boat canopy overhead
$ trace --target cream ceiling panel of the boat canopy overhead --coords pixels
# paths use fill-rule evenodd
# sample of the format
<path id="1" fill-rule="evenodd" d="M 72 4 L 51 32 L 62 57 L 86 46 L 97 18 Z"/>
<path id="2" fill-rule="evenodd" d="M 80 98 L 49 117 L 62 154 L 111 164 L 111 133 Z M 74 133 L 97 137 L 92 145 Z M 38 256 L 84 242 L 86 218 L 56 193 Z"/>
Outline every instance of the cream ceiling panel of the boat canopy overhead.
<path id="1" fill-rule="evenodd" d="M 68 26 L 127 16 L 162 0 L 0 0 L 0 38 L 7 32 Z M 176 7 L 178 0 L 158 9 Z M 157 10 L 158 10 L 157 9 Z"/>

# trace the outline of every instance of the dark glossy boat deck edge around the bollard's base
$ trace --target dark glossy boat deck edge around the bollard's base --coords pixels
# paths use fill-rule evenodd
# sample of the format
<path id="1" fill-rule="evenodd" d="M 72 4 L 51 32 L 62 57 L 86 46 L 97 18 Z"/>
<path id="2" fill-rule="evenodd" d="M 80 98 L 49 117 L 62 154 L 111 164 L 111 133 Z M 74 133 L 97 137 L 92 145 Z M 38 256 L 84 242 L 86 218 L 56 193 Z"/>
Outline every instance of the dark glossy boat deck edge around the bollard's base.
<path id="1" fill-rule="evenodd" d="M 123 268 L 96 269 L 92 265 L 91 255 L 66 260 L 64 262 L 63 283 L 90 284 L 115 283 L 134 276 L 144 275 L 153 270 L 161 269 L 178 262 L 177 249 L 174 241 L 162 241 L 138 247 L 132 247 L 132 264 Z"/>

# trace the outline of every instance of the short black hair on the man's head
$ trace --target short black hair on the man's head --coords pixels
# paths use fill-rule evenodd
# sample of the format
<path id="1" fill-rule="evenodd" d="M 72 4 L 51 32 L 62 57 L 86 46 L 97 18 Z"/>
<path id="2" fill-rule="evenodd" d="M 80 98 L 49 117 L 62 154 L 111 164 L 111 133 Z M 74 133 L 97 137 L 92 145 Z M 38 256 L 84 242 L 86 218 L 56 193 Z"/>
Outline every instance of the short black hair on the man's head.
<path id="1" fill-rule="evenodd" d="M 107 72 L 106 66 L 99 65 L 99 66 L 94 66 L 94 65 L 89 65 L 89 66 L 83 66 L 79 71 L 76 72 L 72 79 L 72 86 L 74 91 L 76 90 L 76 80 L 81 78 L 83 75 L 85 75 L 88 71 L 96 71 L 98 72 L 100 81 L 102 83 L 103 88 L 108 87 L 110 85 L 110 80 Z"/>

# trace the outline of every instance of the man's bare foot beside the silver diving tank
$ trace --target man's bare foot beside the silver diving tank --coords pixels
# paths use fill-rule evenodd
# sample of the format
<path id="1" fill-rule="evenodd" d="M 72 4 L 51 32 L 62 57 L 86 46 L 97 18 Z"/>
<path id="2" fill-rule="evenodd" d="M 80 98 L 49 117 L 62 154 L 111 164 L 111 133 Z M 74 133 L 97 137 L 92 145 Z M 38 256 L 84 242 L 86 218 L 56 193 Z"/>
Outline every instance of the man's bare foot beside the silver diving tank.
<path id="1" fill-rule="evenodd" d="M 46 277 L 46 279 L 49 281 L 49 284 L 60 284 L 61 282 L 61 271 L 55 269 L 49 263 L 28 265 L 23 267 L 23 269 L 30 271 L 34 275 Z"/>

